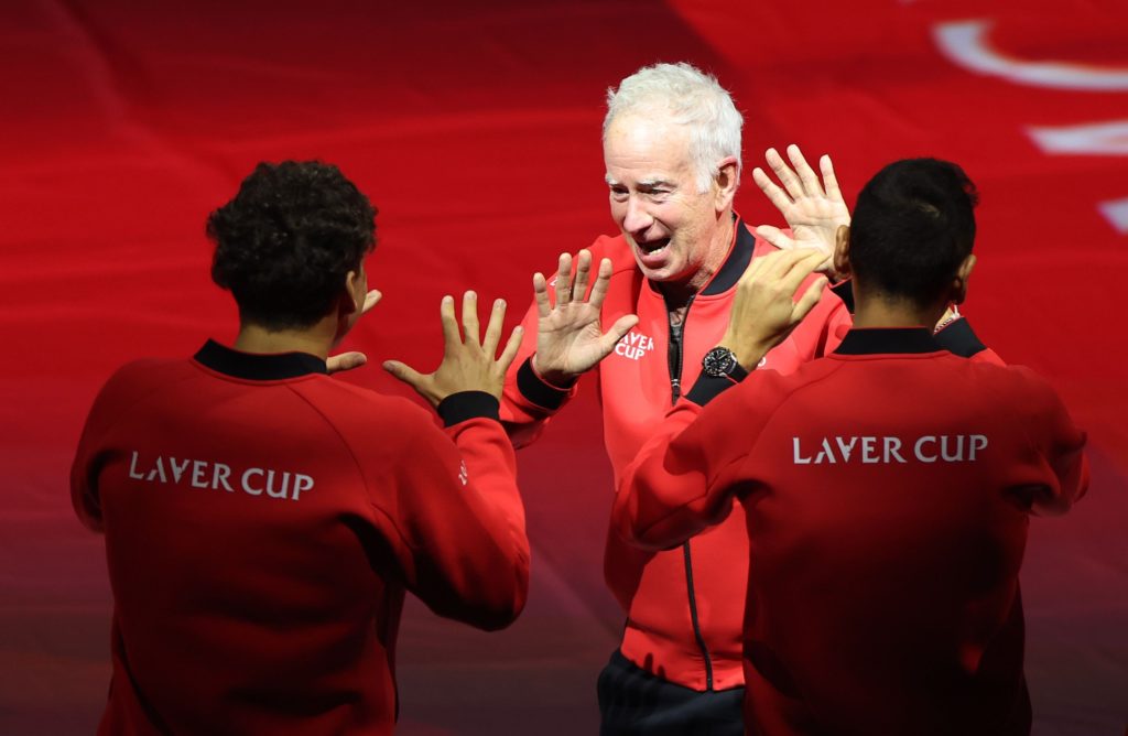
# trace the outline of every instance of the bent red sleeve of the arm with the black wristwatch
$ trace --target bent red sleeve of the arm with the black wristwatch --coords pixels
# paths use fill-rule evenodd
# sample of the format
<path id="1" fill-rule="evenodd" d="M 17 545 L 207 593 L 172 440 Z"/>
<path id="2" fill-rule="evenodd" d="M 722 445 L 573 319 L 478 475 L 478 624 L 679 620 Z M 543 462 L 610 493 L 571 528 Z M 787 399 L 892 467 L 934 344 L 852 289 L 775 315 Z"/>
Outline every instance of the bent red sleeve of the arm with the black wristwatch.
<path id="1" fill-rule="evenodd" d="M 778 405 L 777 378 L 752 374 L 707 408 L 675 405 L 623 474 L 611 523 L 624 538 L 670 549 L 728 517 L 755 483 L 744 461 Z"/>

